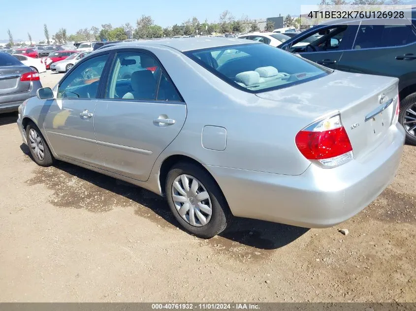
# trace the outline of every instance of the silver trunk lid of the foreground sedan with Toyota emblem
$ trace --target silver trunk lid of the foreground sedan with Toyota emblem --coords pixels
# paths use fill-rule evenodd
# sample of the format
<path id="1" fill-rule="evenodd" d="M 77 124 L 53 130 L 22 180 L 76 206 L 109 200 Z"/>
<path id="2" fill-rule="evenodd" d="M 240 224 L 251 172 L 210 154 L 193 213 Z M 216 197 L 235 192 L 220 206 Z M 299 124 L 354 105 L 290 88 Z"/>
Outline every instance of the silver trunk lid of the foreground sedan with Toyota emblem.
<path id="1" fill-rule="evenodd" d="M 340 113 L 354 158 L 359 159 L 373 151 L 387 135 L 398 102 L 398 79 L 335 71 L 304 84 L 256 95 L 328 109 L 326 115 L 311 114 L 311 123 Z"/>

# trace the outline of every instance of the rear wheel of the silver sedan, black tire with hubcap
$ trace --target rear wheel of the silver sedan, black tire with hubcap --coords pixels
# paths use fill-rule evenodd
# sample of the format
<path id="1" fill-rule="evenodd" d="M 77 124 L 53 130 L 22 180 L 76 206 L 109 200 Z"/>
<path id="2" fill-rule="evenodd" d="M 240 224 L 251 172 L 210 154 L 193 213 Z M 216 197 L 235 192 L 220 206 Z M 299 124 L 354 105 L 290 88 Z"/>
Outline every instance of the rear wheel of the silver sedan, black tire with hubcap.
<path id="1" fill-rule="evenodd" d="M 177 190 L 177 187 L 181 188 L 183 191 L 182 193 L 184 194 L 184 189 L 186 187 L 182 182 L 183 179 L 181 176 L 183 175 L 187 176 L 188 188 L 190 188 L 188 193 L 185 192 L 185 196 L 181 195 Z M 198 183 L 196 191 L 192 190 L 194 180 Z M 174 187 L 173 184 L 176 182 L 177 186 Z M 202 195 L 200 198 L 197 198 L 197 195 L 195 194 L 204 193 L 204 190 L 207 192 L 208 196 Z M 224 231 L 231 222 L 231 212 L 220 187 L 210 174 L 195 164 L 181 162 L 174 165 L 166 176 L 165 194 L 170 210 L 179 224 L 181 224 L 186 231 L 200 238 L 209 239 L 216 236 Z M 190 196 L 188 196 L 188 194 Z M 179 197 L 180 201 L 176 200 L 175 202 L 173 195 L 176 196 L 176 199 Z M 201 199 L 200 203 L 203 203 L 204 209 L 199 209 L 199 207 L 197 207 L 199 199 Z M 187 208 L 184 209 L 186 213 L 184 216 L 181 216 L 179 211 L 185 204 L 188 204 Z M 207 207 L 210 207 L 211 215 L 207 212 Z M 191 224 L 191 213 L 194 215 L 194 224 Z M 205 217 L 206 224 L 203 224 L 203 222 L 200 221 L 201 214 L 202 218 Z"/>

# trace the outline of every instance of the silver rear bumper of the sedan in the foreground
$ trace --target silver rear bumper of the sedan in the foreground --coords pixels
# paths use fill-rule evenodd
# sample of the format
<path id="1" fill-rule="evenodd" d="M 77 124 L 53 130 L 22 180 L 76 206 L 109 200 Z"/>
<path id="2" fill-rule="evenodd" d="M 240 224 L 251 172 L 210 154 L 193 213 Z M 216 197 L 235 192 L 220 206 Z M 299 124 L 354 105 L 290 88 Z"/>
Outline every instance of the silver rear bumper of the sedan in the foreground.
<path id="1" fill-rule="evenodd" d="M 365 159 L 333 169 L 311 165 L 298 176 L 206 166 L 235 216 L 303 227 L 329 227 L 377 198 L 401 160 L 405 131 L 397 123 Z M 278 160 L 277 160 L 278 161 Z"/>

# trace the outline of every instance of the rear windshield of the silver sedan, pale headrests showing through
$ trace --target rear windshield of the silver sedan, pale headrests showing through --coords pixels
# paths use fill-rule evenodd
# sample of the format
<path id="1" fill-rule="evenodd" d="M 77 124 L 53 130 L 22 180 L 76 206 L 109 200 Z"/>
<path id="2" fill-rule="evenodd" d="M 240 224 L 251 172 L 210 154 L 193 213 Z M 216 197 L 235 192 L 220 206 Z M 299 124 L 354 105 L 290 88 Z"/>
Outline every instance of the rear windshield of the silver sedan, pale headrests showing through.
<path id="1" fill-rule="evenodd" d="M 230 85 L 257 93 L 318 79 L 329 69 L 267 44 L 242 44 L 185 52 Z"/>

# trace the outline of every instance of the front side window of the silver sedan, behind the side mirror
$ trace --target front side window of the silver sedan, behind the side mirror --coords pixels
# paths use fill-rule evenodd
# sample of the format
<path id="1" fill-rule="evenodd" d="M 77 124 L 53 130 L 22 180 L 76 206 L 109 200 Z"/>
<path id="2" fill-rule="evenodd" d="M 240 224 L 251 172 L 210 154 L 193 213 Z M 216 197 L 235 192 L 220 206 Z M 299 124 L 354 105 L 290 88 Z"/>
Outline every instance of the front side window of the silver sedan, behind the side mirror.
<path id="1" fill-rule="evenodd" d="M 96 98 L 99 80 L 108 55 L 101 55 L 80 64 L 58 87 L 58 98 Z"/>

